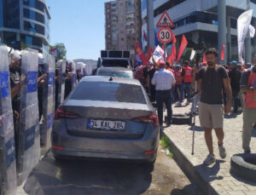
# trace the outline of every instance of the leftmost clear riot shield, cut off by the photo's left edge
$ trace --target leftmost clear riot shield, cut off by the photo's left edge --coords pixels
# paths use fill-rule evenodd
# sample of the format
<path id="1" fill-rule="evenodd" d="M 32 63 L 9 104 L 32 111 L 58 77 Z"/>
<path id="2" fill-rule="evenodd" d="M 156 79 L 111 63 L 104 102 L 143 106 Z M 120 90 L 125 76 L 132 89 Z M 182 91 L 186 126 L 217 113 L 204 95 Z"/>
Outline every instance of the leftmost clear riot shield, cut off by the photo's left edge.
<path id="1" fill-rule="evenodd" d="M 15 194 L 15 131 L 9 83 L 9 57 L 7 47 L 3 45 L 0 45 L 0 84 L 0 189 L 1 194 Z"/>

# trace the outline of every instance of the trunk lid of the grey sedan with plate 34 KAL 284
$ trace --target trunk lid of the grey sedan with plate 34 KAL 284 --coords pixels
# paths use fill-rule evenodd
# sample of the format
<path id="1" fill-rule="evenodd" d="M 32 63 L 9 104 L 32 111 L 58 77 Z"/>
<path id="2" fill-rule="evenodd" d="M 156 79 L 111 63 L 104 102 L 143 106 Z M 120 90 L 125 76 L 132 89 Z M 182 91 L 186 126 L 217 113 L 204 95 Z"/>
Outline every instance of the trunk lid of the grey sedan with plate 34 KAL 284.
<path id="1" fill-rule="evenodd" d="M 108 139 L 139 139 L 143 137 L 148 123 L 137 118 L 149 117 L 147 105 L 135 104 L 134 109 L 131 103 L 107 103 L 103 101 L 83 102 L 83 105 L 61 106 L 61 110 L 67 113 L 67 118 L 61 118 L 66 125 L 67 133 L 75 136 L 86 136 L 92 138 Z M 78 103 L 78 102 L 77 102 Z M 107 106 L 108 105 L 108 106 Z M 73 115 L 71 118 L 68 115 Z M 97 128 L 91 128 L 92 121 L 96 121 Z M 109 123 L 122 123 L 124 129 L 111 129 Z M 100 126 L 99 126 L 100 125 Z M 113 126 L 112 126 L 113 127 Z"/>

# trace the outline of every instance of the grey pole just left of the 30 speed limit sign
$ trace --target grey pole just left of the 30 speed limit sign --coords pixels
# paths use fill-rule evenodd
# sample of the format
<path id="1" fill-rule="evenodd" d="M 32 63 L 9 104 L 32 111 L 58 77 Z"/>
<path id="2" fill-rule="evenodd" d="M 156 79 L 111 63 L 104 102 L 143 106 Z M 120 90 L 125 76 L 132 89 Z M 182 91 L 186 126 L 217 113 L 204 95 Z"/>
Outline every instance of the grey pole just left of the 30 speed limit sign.
<path id="1" fill-rule="evenodd" d="M 148 28 L 148 48 L 154 48 L 154 3 L 147 0 L 147 28 Z"/>

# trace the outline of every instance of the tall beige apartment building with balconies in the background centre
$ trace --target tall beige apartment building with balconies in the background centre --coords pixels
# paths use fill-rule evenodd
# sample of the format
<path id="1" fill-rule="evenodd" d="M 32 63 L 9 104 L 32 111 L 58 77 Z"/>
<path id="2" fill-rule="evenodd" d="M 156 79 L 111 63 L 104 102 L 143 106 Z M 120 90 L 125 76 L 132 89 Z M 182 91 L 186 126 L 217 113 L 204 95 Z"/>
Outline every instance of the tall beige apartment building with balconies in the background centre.
<path id="1" fill-rule="evenodd" d="M 108 50 L 130 50 L 134 54 L 141 41 L 140 0 L 116 0 L 105 3 L 105 40 Z"/>

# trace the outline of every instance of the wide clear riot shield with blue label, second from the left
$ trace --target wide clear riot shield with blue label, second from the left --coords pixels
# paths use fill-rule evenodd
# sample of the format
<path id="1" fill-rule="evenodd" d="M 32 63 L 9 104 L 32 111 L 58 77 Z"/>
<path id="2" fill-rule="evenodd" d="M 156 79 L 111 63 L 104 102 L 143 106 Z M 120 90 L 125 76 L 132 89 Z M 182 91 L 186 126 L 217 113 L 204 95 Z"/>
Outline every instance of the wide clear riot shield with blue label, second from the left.
<path id="1" fill-rule="evenodd" d="M 20 130 L 17 159 L 18 184 L 22 184 L 40 158 L 38 115 L 38 51 L 22 51 Z M 22 82 L 24 80 L 24 82 Z"/>

